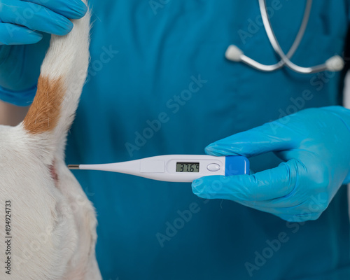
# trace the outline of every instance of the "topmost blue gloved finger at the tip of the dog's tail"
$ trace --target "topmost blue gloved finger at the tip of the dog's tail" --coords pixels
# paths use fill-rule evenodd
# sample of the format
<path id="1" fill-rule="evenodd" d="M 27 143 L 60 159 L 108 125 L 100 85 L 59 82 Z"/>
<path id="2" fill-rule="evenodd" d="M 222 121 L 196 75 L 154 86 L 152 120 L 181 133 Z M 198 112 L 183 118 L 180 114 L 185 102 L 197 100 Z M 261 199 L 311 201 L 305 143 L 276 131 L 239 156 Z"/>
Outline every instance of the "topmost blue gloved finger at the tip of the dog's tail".
<path id="1" fill-rule="evenodd" d="M 41 6 L 45 6 L 50 10 L 63 15 L 66 18 L 72 20 L 82 18 L 86 11 L 87 6 L 81 0 L 22 0 L 25 2 L 36 3 Z"/>

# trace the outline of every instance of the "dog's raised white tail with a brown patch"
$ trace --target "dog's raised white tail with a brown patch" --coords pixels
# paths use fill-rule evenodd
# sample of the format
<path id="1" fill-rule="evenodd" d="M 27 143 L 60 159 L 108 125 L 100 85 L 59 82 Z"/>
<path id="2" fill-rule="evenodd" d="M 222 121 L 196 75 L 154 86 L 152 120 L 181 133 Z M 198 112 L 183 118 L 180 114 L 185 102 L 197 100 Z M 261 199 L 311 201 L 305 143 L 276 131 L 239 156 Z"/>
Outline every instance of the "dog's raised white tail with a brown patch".
<path id="1" fill-rule="evenodd" d="M 56 151 L 51 152 L 62 151 L 62 155 L 87 76 L 90 11 L 72 22 L 74 27 L 68 35 L 51 37 L 41 65 L 36 97 L 23 121 L 29 134 L 45 134 L 53 140 Z"/>

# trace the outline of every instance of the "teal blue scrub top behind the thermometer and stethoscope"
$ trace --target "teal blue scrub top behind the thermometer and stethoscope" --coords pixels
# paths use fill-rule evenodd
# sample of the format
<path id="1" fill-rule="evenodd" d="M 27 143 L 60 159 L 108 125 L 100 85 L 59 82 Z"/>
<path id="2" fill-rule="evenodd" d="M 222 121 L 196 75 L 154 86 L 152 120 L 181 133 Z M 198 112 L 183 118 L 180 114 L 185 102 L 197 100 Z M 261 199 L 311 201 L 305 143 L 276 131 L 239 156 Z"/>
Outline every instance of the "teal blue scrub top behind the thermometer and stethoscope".
<path id="1" fill-rule="evenodd" d="M 270 0 L 285 52 L 305 1 Z M 228 62 L 235 44 L 258 62 L 277 57 L 258 1 L 90 0 L 91 64 L 66 162 L 120 162 L 203 154 L 231 134 L 309 107 L 340 104 L 342 75 L 262 73 Z M 314 66 L 342 54 L 349 1 L 314 1 L 293 57 Z M 254 172 L 275 167 L 251 158 Z M 349 216 L 342 187 L 317 221 L 287 223 L 228 200 L 202 200 L 190 183 L 74 172 L 97 209 L 104 279 L 350 279 Z"/>

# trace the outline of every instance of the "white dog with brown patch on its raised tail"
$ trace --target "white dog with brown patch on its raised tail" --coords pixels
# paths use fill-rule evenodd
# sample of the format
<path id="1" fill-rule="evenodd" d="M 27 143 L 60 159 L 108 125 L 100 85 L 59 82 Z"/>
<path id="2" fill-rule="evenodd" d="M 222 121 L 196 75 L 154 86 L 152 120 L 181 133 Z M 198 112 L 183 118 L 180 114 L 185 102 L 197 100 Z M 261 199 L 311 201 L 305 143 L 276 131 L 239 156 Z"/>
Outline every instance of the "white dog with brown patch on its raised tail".
<path id="1" fill-rule="evenodd" d="M 90 59 L 90 11 L 72 22 L 68 35 L 51 36 L 25 120 L 0 125 L 0 279 L 102 279 L 95 211 L 64 163 Z"/>

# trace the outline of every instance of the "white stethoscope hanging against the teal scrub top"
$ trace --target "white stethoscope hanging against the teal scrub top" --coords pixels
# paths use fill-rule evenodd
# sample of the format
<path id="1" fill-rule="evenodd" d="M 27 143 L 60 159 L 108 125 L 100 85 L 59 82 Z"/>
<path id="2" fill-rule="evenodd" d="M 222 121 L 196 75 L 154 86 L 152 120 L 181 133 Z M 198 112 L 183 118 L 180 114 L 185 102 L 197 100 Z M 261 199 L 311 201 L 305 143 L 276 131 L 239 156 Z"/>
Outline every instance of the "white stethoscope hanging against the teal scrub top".
<path id="1" fill-rule="evenodd" d="M 225 57 L 227 59 L 230 59 L 233 62 L 244 62 L 245 64 L 253 67 L 254 69 L 258 69 L 260 71 L 265 71 L 265 72 L 276 71 L 278 69 L 281 69 L 283 66 L 287 66 L 289 69 L 292 69 L 297 73 L 305 73 L 305 74 L 316 73 L 316 72 L 321 72 L 325 70 L 335 72 L 335 71 L 341 71 L 344 68 L 344 60 L 339 55 L 330 57 L 329 59 L 327 59 L 327 61 L 324 64 L 311 66 L 311 67 L 298 66 L 290 61 L 291 57 L 294 55 L 295 51 L 297 50 L 300 44 L 300 41 L 302 41 L 302 37 L 304 36 L 304 31 L 307 27 L 307 23 L 309 22 L 312 0 L 307 0 L 306 8 L 304 11 L 304 18 L 302 19 L 302 25 L 300 26 L 297 36 L 295 37 L 295 41 L 287 54 L 283 52 L 281 45 L 279 45 L 276 35 L 272 30 L 271 22 L 269 20 L 269 16 L 267 15 L 266 0 L 259 0 L 259 6 L 260 6 L 260 13 L 262 15 L 262 22 L 264 24 L 267 36 L 269 37 L 269 41 L 272 45 L 272 48 L 274 48 L 274 51 L 281 57 L 281 60 L 278 63 L 273 65 L 261 64 L 251 59 L 250 57 L 247 57 L 246 55 L 244 55 L 244 52 L 241 49 L 239 49 L 237 45 L 230 45 L 228 47 L 228 50 L 226 50 L 226 53 L 225 53 Z"/>

